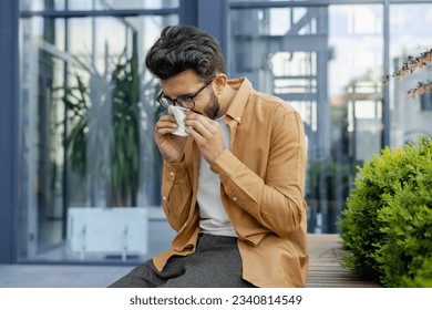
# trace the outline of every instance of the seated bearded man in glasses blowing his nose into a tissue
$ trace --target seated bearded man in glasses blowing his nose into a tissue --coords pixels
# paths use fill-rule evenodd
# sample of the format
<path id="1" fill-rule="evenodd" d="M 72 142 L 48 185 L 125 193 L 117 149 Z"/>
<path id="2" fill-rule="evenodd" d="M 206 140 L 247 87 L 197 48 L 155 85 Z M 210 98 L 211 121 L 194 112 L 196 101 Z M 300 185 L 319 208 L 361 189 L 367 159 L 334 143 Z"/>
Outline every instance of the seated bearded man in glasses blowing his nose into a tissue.
<path id="1" fill-rule="evenodd" d="M 162 204 L 172 248 L 111 287 L 305 287 L 308 269 L 306 143 L 282 100 L 227 80 L 219 44 L 167 27 L 146 55 L 158 103 L 186 107 L 155 125 L 164 157 Z"/>

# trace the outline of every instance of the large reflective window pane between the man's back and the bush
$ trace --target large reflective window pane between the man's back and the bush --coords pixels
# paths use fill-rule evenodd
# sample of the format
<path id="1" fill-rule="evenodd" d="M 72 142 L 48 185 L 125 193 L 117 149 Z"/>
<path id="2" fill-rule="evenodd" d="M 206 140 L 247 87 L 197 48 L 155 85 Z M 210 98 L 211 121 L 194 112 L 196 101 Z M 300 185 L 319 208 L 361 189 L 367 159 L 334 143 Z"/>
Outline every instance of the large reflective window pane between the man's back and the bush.
<path id="1" fill-rule="evenodd" d="M 232 10 L 230 74 L 302 115 L 308 229 L 336 232 L 356 165 L 380 149 L 383 10 L 298 6 Z"/>

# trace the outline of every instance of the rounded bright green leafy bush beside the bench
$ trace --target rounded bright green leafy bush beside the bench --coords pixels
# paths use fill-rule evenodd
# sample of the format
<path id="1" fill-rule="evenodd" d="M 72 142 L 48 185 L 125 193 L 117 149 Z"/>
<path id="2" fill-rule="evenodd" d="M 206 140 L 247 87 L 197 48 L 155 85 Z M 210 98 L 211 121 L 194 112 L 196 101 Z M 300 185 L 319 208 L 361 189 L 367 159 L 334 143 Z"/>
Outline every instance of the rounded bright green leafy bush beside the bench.
<path id="1" fill-rule="evenodd" d="M 432 287 L 432 141 L 388 147 L 358 169 L 339 221 L 342 264 L 385 287 Z"/>

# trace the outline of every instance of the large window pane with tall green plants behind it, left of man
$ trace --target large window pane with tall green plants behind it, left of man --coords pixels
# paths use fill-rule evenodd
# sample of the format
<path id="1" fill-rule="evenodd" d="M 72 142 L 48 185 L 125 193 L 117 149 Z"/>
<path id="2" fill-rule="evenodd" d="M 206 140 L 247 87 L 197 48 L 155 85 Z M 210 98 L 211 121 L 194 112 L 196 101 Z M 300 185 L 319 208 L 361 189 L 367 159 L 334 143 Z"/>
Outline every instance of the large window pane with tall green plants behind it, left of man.
<path id="1" fill-rule="evenodd" d="M 21 20 L 20 259 L 80 259 L 65 239 L 71 208 L 160 205 L 160 86 L 143 58 L 168 23 L 176 17 Z"/>

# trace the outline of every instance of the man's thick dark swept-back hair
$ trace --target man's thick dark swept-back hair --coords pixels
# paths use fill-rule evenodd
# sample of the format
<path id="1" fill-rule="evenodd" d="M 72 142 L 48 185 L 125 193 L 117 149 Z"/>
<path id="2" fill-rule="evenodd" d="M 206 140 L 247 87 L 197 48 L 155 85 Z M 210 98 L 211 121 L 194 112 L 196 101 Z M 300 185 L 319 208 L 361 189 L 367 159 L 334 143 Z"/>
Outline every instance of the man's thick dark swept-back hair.
<path id="1" fill-rule="evenodd" d="M 203 81 L 226 73 L 220 45 L 207 32 L 189 25 L 166 27 L 147 52 L 147 69 L 161 80 L 193 70 Z"/>

